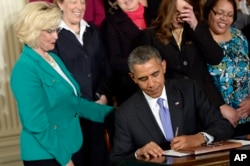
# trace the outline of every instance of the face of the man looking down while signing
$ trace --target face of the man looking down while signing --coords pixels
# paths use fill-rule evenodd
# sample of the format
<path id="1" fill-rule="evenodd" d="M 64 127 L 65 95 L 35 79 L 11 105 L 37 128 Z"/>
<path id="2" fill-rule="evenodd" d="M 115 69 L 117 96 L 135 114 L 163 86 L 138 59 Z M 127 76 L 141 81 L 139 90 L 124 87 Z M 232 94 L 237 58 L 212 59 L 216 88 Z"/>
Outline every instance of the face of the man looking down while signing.
<path id="1" fill-rule="evenodd" d="M 133 65 L 133 69 L 134 73 L 130 73 L 130 76 L 142 91 L 152 98 L 161 96 L 165 84 L 165 61 L 158 62 L 152 58 L 144 64 Z"/>

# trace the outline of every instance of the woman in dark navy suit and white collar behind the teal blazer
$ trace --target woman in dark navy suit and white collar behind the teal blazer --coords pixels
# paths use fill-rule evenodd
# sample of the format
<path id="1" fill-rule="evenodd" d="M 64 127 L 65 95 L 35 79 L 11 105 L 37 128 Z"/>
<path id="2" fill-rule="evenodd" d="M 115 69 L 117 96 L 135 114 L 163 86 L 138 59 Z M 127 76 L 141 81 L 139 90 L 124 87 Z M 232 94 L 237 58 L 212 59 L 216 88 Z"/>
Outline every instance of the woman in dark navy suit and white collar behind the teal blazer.
<path id="1" fill-rule="evenodd" d="M 107 104 L 110 67 L 97 27 L 86 22 L 84 0 L 54 0 L 62 11 L 58 40 L 53 50 L 78 82 L 81 97 Z M 89 110 L 92 111 L 92 110 Z M 75 165 L 107 166 L 108 150 L 102 123 L 80 119 L 84 143 L 73 156 Z"/>

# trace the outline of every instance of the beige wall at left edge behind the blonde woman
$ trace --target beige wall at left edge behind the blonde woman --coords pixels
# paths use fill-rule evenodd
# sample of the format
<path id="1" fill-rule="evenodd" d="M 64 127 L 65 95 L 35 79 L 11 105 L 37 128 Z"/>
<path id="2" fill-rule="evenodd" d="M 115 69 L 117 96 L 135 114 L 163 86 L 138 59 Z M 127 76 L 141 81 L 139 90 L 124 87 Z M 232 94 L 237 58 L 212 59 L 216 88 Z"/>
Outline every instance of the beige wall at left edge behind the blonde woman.
<path id="1" fill-rule="evenodd" d="M 13 23 L 27 0 L 0 0 L 0 166 L 21 166 L 19 152 L 20 124 L 9 77 L 20 51 Z"/>

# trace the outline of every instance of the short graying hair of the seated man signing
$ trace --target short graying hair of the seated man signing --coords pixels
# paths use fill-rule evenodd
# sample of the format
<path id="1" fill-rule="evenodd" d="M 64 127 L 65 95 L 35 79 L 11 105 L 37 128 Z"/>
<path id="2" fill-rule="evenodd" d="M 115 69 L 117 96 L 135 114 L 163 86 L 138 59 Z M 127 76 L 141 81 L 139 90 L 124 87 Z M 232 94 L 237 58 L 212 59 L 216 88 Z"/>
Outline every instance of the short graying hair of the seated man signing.
<path id="1" fill-rule="evenodd" d="M 161 63 L 162 58 L 159 51 L 149 45 L 139 46 L 135 48 L 128 57 L 128 67 L 130 72 L 134 72 L 133 65 L 135 64 L 144 64 L 150 59 L 156 58 L 156 60 Z"/>

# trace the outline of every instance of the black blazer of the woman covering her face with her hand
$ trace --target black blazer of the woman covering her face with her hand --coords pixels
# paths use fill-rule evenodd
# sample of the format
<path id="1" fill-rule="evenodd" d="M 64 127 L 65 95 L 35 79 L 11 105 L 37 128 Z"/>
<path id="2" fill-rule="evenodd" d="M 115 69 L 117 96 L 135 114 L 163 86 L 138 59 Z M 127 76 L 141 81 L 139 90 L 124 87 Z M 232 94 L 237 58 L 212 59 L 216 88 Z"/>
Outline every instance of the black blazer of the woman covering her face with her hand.
<path id="1" fill-rule="evenodd" d="M 210 76 L 207 64 L 219 64 L 223 58 L 223 51 L 213 40 L 207 24 L 199 23 L 192 31 L 188 26 L 184 27 L 181 50 L 174 38 L 165 45 L 156 37 L 157 28 L 144 31 L 141 44 L 148 44 L 160 52 L 167 61 L 167 79 L 192 79 L 202 87 L 209 100 L 216 106 L 224 104 L 219 91 Z"/>

